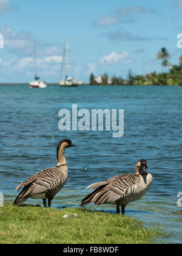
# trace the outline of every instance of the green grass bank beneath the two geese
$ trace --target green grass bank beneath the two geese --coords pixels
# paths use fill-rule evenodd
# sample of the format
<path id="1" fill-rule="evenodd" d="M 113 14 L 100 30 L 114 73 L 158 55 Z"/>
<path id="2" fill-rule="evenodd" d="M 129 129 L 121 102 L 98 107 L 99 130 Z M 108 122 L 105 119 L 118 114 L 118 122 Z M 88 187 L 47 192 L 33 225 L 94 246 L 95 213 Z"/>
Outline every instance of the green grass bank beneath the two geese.
<path id="1" fill-rule="evenodd" d="M 76 213 L 78 217 L 70 215 Z M 63 218 L 67 214 L 68 218 Z M 0 243 L 152 243 L 160 231 L 127 216 L 79 208 L 0 207 Z"/>

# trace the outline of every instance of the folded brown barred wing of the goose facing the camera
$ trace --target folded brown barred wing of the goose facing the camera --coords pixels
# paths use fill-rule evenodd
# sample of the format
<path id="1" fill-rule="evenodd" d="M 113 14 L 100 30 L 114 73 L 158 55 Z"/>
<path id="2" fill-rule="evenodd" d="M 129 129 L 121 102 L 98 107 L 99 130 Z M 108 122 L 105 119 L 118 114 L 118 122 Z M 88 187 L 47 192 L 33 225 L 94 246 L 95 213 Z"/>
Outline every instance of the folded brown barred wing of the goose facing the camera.
<path id="1" fill-rule="evenodd" d="M 96 205 L 113 203 L 131 193 L 136 184 L 137 177 L 135 174 L 122 174 L 105 182 L 93 183 L 89 187 L 96 188 L 96 190 L 81 201 L 81 206 L 92 202 Z"/>

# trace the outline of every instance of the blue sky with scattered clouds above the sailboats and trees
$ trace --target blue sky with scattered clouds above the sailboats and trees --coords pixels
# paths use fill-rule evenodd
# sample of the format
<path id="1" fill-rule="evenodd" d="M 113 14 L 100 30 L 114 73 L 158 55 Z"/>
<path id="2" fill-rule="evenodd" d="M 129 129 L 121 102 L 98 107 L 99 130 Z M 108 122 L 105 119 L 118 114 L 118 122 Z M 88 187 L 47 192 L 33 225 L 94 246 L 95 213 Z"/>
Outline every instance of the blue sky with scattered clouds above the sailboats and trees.
<path id="1" fill-rule="evenodd" d="M 178 64 L 182 49 L 182 0 L 0 0 L 0 83 L 30 82 L 37 42 L 38 76 L 58 82 L 66 36 L 69 75 L 127 77 L 161 71 L 157 52 L 166 47 Z"/>

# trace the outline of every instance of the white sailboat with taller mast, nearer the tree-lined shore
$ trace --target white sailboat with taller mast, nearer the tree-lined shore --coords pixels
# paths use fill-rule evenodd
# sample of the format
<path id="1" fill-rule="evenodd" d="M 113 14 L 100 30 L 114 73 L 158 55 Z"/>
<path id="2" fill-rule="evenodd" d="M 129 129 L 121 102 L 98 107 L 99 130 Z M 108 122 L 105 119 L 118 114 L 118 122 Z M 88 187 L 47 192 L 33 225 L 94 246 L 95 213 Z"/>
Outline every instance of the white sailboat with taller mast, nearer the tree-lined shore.
<path id="1" fill-rule="evenodd" d="M 63 61 L 62 61 L 62 66 L 61 66 L 61 76 L 63 73 L 63 68 L 64 68 L 64 77 L 65 79 L 61 79 L 59 81 L 59 85 L 64 86 L 64 87 L 78 87 L 81 82 L 79 80 L 76 80 L 74 77 L 68 76 L 67 70 L 68 70 L 68 59 L 67 59 L 67 49 L 68 49 L 68 39 L 66 38 L 65 42 L 65 49 L 64 49 L 64 54 L 63 54 Z"/>

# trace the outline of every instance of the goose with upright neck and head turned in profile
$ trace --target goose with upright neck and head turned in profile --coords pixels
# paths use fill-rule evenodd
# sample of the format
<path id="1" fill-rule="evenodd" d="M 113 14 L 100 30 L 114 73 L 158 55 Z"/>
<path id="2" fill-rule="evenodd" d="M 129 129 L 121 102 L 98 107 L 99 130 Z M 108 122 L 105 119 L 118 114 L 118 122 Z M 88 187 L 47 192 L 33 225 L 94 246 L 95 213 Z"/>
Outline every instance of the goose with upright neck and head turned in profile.
<path id="1" fill-rule="evenodd" d="M 13 204 L 21 205 L 28 198 L 42 199 L 44 207 L 47 207 L 46 199 L 48 199 L 48 206 L 51 207 L 51 201 L 55 194 L 57 194 L 64 184 L 68 176 L 67 162 L 64 157 L 64 150 L 75 146 L 70 140 L 61 140 L 57 146 L 57 160 L 55 167 L 49 169 L 42 169 L 35 175 L 31 176 L 25 182 L 22 182 L 16 190 L 24 187 L 16 197 Z"/>

